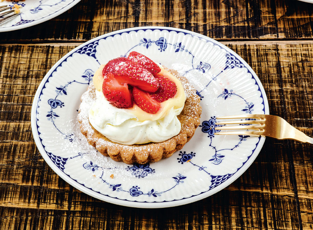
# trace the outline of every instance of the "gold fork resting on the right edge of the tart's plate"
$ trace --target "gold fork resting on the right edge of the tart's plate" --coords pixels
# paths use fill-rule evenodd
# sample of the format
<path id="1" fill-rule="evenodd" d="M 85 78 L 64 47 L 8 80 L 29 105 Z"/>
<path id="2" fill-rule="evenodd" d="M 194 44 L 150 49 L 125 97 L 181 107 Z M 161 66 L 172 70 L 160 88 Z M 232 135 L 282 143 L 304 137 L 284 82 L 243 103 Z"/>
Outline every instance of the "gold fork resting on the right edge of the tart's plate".
<path id="1" fill-rule="evenodd" d="M 244 120 L 216 122 L 215 125 L 225 125 L 225 126 L 215 127 L 215 130 L 238 129 L 238 131 L 233 132 L 216 132 L 215 134 L 217 135 L 249 135 L 249 136 L 252 135 L 263 137 L 267 136 L 277 139 L 292 139 L 304 143 L 313 144 L 313 138 L 306 136 L 300 130 L 294 128 L 283 118 L 280 118 L 278 116 L 266 114 L 247 114 L 228 117 L 218 117 L 216 119 L 244 119 Z"/>

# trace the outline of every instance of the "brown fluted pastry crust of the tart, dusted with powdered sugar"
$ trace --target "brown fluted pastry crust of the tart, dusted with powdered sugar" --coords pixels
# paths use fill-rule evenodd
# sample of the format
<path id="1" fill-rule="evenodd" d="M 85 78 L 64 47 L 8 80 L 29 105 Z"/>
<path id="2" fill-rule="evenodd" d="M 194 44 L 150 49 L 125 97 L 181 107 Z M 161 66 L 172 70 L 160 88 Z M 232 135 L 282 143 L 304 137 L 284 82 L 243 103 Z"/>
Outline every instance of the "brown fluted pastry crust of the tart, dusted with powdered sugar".
<path id="1" fill-rule="evenodd" d="M 162 158 L 168 158 L 177 150 L 182 149 L 192 138 L 196 128 L 200 124 L 200 115 L 202 112 L 200 98 L 196 94 L 195 88 L 189 84 L 187 78 L 180 76 L 175 70 L 166 70 L 181 81 L 187 96 L 184 108 L 177 116 L 181 123 L 180 133 L 161 143 L 151 142 L 140 145 L 123 145 L 110 141 L 95 130 L 89 122 L 89 109 L 96 99 L 95 87 L 93 84 L 90 84 L 87 91 L 81 97 L 82 103 L 78 112 L 80 131 L 85 135 L 88 143 L 94 146 L 104 156 L 109 156 L 115 161 L 123 161 L 127 164 L 156 162 Z"/>

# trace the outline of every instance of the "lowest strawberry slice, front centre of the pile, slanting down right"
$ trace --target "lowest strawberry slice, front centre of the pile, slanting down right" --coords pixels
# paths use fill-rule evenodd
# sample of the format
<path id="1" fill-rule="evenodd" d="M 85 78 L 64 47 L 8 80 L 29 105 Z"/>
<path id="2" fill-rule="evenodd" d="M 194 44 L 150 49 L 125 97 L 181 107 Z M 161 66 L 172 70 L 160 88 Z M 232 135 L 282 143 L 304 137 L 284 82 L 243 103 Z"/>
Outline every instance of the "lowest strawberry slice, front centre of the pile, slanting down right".
<path id="1" fill-rule="evenodd" d="M 153 100 L 149 93 L 136 87 L 133 88 L 133 99 L 136 105 L 147 113 L 157 113 L 161 108 L 160 103 Z"/>

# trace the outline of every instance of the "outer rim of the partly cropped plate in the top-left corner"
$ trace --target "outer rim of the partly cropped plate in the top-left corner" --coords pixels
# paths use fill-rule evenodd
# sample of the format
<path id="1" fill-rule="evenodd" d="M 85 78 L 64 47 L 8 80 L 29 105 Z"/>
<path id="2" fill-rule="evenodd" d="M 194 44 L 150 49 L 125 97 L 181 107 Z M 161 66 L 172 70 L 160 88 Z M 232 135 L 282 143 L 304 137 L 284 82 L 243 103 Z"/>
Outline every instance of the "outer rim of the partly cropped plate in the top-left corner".
<path id="1" fill-rule="evenodd" d="M 57 12 L 53 12 L 51 14 L 49 14 L 46 17 L 40 18 L 36 21 L 33 22 L 28 22 L 22 25 L 18 25 L 18 26 L 10 26 L 10 27 L 0 27 L 0 32 L 8 32 L 8 31 L 14 31 L 14 30 L 20 30 L 20 29 L 24 29 L 27 27 L 31 27 L 34 25 L 38 25 L 40 23 L 49 21 L 50 19 L 59 16 L 60 14 L 64 13 L 65 11 L 69 10 L 70 8 L 74 7 L 78 2 L 80 2 L 81 0 L 73 0 L 73 2 L 69 3 L 67 6 L 65 6 L 64 8 L 61 8 L 59 11 Z"/>

